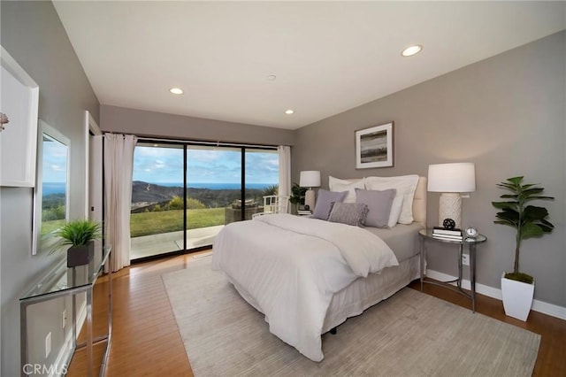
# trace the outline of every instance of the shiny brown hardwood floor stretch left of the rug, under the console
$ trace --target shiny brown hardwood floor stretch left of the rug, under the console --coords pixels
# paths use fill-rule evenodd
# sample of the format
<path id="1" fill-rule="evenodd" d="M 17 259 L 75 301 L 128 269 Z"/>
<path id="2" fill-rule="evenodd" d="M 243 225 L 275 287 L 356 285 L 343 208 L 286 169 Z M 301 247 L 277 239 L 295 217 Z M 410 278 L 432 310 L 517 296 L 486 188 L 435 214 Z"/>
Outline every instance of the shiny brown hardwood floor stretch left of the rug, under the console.
<path id="1" fill-rule="evenodd" d="M 107 376 L 193 375 L 161 280 L 162 273 L 184 269 L 193 260 L 193 255 L 160 259 L 131 265 L 112 274 L 113 316 Z M 101 280 L 96 284 L 96 311 L 98 304 L 103 306 L 103 311 L 106 308 L 103 296 L 107 283 Z M 104 313 L 96 314 L 94 317 L 99 320 L 94 323 L 94 333 L 103 334 Z M 102 349 L 103 345 L 97 347 L 95 375 L 99 373 Z M 86 352 L 80 350 L 67 375 L 87 375 L 86 365 Z"/>

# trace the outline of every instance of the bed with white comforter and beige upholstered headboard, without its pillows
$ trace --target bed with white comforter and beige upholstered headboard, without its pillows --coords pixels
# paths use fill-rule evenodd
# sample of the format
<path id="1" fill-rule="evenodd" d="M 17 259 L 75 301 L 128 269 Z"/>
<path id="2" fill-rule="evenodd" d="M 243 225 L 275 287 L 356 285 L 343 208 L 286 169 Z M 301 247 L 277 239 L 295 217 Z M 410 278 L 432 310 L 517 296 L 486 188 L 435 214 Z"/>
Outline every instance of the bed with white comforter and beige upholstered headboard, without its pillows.
<path id="1" fill-rule="evenodd" d="M 224 271 L 243 299 L 264 313 L 273 335 L 321 361 L 322 334 L 420 276 L 426 179 L 415 177 L 410 224 L 352 227 L 290 214 L 260 216 L 222 229 L 212 268 Z M 344 181 L 350 192 L 360 184 L 352 181 Z"/>

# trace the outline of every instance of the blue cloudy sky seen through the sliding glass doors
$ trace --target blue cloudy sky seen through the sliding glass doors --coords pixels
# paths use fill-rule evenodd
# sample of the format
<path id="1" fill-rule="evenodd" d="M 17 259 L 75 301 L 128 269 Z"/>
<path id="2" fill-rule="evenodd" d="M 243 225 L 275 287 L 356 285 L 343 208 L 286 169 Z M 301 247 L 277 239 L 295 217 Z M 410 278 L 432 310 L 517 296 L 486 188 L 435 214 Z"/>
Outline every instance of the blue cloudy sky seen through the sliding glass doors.
<path id="1" fill-rule="evenodd" d="M 240 183 L 240 150 L 187 150 L 188 183 Z M 134 181 L 176 183 L 183 181 L 182 148 L 136 146 Z M 277 184 L 279 156 L 276 150 L 246 152 L 246 182 Z"/>

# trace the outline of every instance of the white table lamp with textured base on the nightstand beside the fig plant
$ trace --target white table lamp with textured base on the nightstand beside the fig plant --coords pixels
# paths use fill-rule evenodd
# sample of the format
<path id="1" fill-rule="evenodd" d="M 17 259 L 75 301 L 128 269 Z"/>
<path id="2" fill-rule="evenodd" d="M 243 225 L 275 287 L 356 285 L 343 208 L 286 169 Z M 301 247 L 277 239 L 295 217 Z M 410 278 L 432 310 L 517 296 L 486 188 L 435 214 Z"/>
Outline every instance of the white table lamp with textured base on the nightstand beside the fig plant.
<path id="1" fill-rule="evenodd" d="M 476 168 L 473 163 L 428 165 L 428 191 L 441 192 L 439 225 L 453 219 L 455 227 L 462 227 L 462 193 L 476 190 Z"/>

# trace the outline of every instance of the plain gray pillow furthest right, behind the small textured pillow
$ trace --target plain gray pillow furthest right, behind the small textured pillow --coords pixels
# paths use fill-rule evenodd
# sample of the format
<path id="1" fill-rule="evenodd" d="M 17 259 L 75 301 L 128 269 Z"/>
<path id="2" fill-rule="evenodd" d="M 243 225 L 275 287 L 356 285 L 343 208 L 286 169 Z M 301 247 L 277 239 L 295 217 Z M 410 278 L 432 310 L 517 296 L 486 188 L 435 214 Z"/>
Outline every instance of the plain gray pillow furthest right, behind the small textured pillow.
<path id="1" fill-rule="evenodd" d="M 395 188 L 383 191 L 356 188 L 356 203 L 368 206 L 366 227 L 389 227 L 389 214 L 396 194 Z"/>

